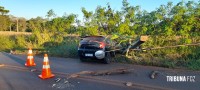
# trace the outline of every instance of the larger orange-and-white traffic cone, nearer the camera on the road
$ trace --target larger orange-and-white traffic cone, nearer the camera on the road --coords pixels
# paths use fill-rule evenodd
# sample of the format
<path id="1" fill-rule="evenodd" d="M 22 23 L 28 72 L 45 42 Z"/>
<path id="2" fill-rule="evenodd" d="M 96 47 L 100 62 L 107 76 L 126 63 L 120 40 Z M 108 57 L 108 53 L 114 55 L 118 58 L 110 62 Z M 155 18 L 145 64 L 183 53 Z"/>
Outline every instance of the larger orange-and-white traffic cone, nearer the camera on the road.
<path id="1" fill-rule="evenodd" d="M 43 61 L 43 67 L 42 67 L 42 74 L 38 75 L 42 79 L 47 79 L 54 77 L 54 74 L 51 74 L 50 66 L 49 66 L 49 60 L 47 54 L 44 54 L 44 61 Z"/>

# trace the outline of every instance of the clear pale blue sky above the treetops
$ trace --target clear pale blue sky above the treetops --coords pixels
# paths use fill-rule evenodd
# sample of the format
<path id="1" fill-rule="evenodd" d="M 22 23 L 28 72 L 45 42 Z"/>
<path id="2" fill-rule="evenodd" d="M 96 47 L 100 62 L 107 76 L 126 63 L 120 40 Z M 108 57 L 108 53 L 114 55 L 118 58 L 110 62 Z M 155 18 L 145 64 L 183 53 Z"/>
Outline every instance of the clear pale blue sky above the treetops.
<path id="1" fill-rule="evenodd" d="M 162 4 L 166 5 L 169 1 L 177 4 L 181 0 L 128 0 L 130 5 L 139 5 L 142 10 L 149 12 Z M 0 6 L 10 10 L 9 14 L 26 19 L 37 16 L 45 18 L 50 9 L 53 9 L 57 16 L 73 13 L 78 14 L 79 19 L 82 19 L 81 7 L 94 12 L 98 5 L 106 6 L 108 2 L 114 10 L 120 10 L 122 7 L 122 0 L 0 0 Z"/>

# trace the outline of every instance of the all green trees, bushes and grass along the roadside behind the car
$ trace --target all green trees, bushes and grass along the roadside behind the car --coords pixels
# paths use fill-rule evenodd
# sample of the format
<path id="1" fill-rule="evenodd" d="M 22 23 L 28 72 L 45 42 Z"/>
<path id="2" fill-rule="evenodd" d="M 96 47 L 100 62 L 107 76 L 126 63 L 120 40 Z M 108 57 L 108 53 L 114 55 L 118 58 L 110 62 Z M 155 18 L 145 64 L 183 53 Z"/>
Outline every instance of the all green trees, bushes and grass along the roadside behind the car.
<path id="1" fill-rule="evenodd" d="M 176 5 L 168 2 L 147 12 L 123 0 L 119 11 L 112 9 L 109 3 L 106 7 L 97 6 L 95 12 L 84 7 L 81 11 L 84 15 L 82 22 L 76 14 L 59 17 L 52 9 L 47 12 L 46 18 L 26 20 L 7 15 L 9 10 L 0 6 L 0 51 L 15 49 L 20 52 L 33 47 L 52 56 L 77 57 L 79 36 L 87 35 L 112 35 L 124 47 L 140 35 L 149 36 L 142 48 L 200 43 L 199 1 L 181 1 Z M 128 56 L 116 56 L 115 60 L 200 70 L 200 47 L 131 51 Z"/>

